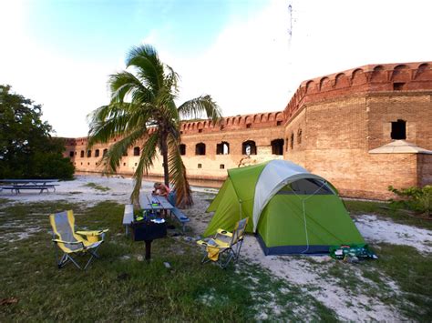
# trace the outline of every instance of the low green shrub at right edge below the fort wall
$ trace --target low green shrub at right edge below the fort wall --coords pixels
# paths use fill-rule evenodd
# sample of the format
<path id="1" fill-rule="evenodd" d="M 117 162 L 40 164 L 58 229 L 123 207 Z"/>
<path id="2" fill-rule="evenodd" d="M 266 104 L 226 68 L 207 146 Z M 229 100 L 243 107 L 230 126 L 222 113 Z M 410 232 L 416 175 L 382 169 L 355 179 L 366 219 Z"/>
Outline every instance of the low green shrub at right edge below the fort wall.
<path id="1" fill-rule="evenodd" d="M 432 186 L 426 187 L 408 187 L 396 189 L 395 187 L 388 187 L 388 190 L 395 193 L 402 200 L 391 200 L 393 207 L 406 207 L 416 212 L 421 212 L 427 216 L 431 215 L 432 211 Z"/>

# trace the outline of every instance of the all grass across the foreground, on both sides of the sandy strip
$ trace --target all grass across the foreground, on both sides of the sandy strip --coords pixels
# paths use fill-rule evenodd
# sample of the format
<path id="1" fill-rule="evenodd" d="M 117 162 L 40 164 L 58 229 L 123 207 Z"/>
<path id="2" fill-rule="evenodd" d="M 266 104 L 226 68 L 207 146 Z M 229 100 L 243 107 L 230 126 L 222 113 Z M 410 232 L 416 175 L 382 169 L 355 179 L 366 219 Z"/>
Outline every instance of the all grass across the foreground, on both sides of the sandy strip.
<path id="1" fill-rule="evenodd" d="M 350 206 L 358 214 L 371 213 L 370 207 L 376 206 Z M 87 271 L 72 264 L 57 269 L 47 216 L 65 209 L 74 210 L 79 228 L 109 229 L 101 258 Z M 186 236 L 155 240 L 147 263 L 143 242 L 125 236 L 122 215 L 123 206 L 108 201 L 88 207 L 66 200 L 20 204 L 2 199 L 0 299 L 12 304 L 0 305 L 0 321 L 335 321 L 334 310 L 319 298 L 324 282 L 341 288 L 348 309 L 367 310 L 373 304 L 359 305 L 358 299 L 369 295 L 405 318 L 432 317 L 427 284 L 432 281 L 432 256 L 413 247 L 375 244 L 380 258 L 357 264 L 286 257 L 287 265 L 303 261 L 304 271 L 317 275 L 316 282 L 304 287 L 245 257 L 226 270 L 202 266 L 199 247 Z"/>

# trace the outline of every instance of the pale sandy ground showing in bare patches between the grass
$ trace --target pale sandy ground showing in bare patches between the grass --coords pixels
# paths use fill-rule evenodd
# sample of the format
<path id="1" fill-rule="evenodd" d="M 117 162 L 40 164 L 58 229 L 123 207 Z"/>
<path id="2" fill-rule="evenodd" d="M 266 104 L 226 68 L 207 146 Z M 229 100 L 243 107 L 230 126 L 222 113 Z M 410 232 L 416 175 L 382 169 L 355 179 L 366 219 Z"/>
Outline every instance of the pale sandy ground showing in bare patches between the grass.
<path id="1" fill-rule="evenodd" d="M 102 192 L 87 187 L 86 185 L 90 182 L 110 189 L 107 192 Z M 38 194 L 35 191 L 15 195 L 3 191 L 0 193 L 0 198 L 5 197 L 17 203 L 69 200 L 71 202 L 84 202 L 88 206 L 105 200 L 128 203 L 132 187 L 133 180 L 130 178 L 78 176 L 73 181 L 59 182 L 56 193 Z M 152 183 L 143 182 L 142 191 L 149 192 L 151 189 Z M 187 232 L 191 236 L 190 240 L 199 238 L 207 227 L 211 215 L 205 214 L 204 211 L 217 193 L 217 189 L 214 188 L 192 187 L 192 189 L 195 204 L 190 209 L 184 210 L 184 213 L 190 217 L 190 227 Z M 412 246 L 422 253 L 432 253 L 432 231 L 430 230 L 396 224 L 372 215 L 357 217 L 355 224 L 367 242 Z M 324 279 L 325 271 L 334 264 L 334 260 L 330 257 L 266 257 L 253 236 L 245 238 L 242 257 L 270 270 L 274 276 L 299 286 L 305 293 L 311 294 L 327 308 L 334 309 L 339 318 L 343 320 L 404 320 L 396 308 L 383 304 L 377 298 L 362 294 L 354 295 L 349 290 L 339 286 L 337 281 Z M 362 276 L 361 270 L 355 266 L 353 266 L 353 274 L 359 278 Z M 365 284 L 373 284 L 366 278 L 361 279 L 365 281 Z M 396 296 L 398 292 L 396 283 L 389 280 L 387 285 Z M 319 286 L 320 288 L 310 288 L 311 286 Z M 355 306 L 347 307 L 347 301 L 355 304 Z M 262 318 L 265 319 L 265 316 Z"/>

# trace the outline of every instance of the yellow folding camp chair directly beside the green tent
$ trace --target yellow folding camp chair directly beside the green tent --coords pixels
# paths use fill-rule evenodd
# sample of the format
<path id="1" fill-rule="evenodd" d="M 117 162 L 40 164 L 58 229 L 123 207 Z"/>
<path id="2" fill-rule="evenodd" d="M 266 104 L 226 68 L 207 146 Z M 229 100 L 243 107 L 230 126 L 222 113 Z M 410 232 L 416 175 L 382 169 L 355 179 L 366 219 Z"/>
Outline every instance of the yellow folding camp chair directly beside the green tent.
<path id="1" fill-rule="evenodd" d="M 225 268 L 232 258 L 236 261 L 240 257 L 243 234 L 248 224 L 248 219 L 246 217 L 237 222 L 232 232 L 219 228 L 214 237 L 197 241 L 198 245 L 205 247 L 201 263 L 204 264 L 213 261 L 221 268 Z"/>

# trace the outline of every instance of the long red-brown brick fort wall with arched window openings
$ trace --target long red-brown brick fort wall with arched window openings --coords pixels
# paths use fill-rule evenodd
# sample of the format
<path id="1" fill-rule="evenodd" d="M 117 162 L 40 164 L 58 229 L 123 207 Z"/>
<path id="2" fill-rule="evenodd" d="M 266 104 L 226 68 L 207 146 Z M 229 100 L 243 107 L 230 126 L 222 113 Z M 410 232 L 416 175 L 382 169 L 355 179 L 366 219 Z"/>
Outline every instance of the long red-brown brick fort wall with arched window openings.
<path id="1" fill-rule="evenodd" d="M 345 197 L 386 199 L 393 197 L 389 185 L 432 184 L 432 155 L 368 153 L 392 141 L 392 122 L 399 119 L 406 121 L 406 141 L 432 150 L 431 66 L 361 66 L 304 81 L 283 111 L 227 116 L 215 125 L 183 122 L 188 176 L 224 179 L 229 168 L 284 158 L 327 178 Z M 246 141 L 254 142 L 256 155 L 244 154 Z M 222 142 L 229 144 L 227 155 L 217 154 Z M 94 146 L 87 157 L 87 138 L 69 138 L 66 156 L 72 154 L 78 171 L 101 171 L 100 157 L 111 144 Z M 204 156 L 196 155 L 198 144 L 205 145 Z M 118 173 L 133 173 L 139 160 L 133 153 Z M 158 156 L 149 175 L 161 174 Z"/>

